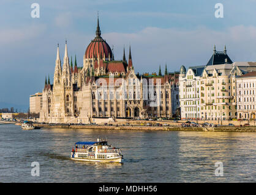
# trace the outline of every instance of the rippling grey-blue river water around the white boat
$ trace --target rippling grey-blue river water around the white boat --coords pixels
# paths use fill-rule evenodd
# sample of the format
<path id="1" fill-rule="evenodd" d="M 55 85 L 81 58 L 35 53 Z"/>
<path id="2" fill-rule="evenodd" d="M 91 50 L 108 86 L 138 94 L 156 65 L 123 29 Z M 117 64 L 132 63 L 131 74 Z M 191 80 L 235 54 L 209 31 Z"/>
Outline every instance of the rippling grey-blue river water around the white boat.
<path id="1" fill-rule="evenodd" d="M 123 164 L 69 160 L 77 141 L 107 137 Z M 256 133 L 39 129 L 0 125 L 0 182 L 256 182 Z M 31 163 L 40 176 L 31 176 Z M 216 161 L 224 176 L 216 177 Z"/>

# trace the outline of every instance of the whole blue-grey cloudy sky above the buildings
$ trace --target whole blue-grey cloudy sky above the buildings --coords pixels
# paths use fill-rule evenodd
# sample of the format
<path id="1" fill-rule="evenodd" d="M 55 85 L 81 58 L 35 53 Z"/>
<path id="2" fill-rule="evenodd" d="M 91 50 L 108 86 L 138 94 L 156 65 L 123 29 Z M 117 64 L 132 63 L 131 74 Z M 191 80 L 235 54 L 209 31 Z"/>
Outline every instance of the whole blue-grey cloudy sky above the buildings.
<path id="1" fill-rule="evenodd" d="M 40 5 L 32 18 L 31 4 Z M 224 6 L 216 18 L 215 5 Z M 123 48 L 135 73 L 179 71 L 181 65 L 205 65 L 217 51 L 233 62 L 256 61 L 256 0 L 1 0 L 0 102 L 29 106 L 29 95 L 42 91 L 45 76 L 53 81 L 56 47 L 61 61 L 65 40 L 69 58 L 78 66 L 95 37 L 97 12 L 100 30 L 114 46 L 115 59 Z"/>

